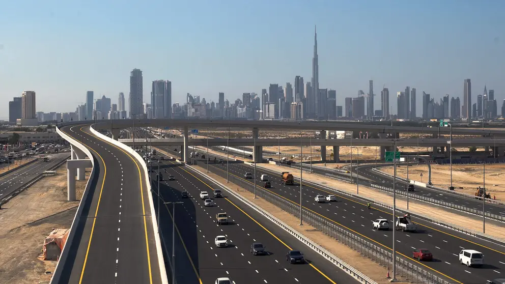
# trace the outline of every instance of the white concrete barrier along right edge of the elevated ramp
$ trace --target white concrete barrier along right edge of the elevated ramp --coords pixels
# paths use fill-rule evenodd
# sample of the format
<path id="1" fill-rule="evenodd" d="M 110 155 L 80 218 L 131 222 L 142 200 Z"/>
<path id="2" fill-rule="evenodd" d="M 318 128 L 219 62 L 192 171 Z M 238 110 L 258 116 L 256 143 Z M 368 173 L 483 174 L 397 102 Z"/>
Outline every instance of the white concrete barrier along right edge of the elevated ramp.
<path id="1" fill-rule="evenodd" d="M 91 129 L 91 132 L 93 134 L 95 134 L 97 137 L 99 137 L 100 139 L 107 141 L 108 143 L 113 144 L 116 147 L 123 149 L 125 152 L 132 155 L 137 160 L 137 162 L 142 166 L 142 169 L 144 171 L 144 177 L 146 178 L 146 186 L 148 189 L 149 207 L 151 209 L 151 220 L 152 220 L 153 232 L 155 232 L 154 238 L 155 238 L 155 243 L 156 243 L 156 251 L 158 254 L 158 265 L 159 265 L 159 270 L 160 270 L 160 275 L 161 275 L 161 282 L 163 284 L 168 284 L 169 280 L 167 279 L 167 276 L 166 276 L 165 262 L 163 261 L 163 251 L 161 250 L 161 240 L 160 240 L 160 236 L 159 236 L 159 232 L 158 232 L 158 225 L 157 225 L 157 221 L 156 221 L 156 211 L 154 210 L 153 194 L 151 191 L 151 183 L 149 181 L 149 174 L 147 172 L 146 162 L 144 161 L 142 156 L 140 154 L 138 154 L 137 152 L 135 152 L 133 149 L 131 149 L 131 147 L 128 147 L 128 146 L 124 145 L 123 143 L 114 140 L 111 137 L 107 137 L 107 136 L 101 134 L 100 132 L 93 129 L 93 127 L 90 127 L 90 129 Z"/>

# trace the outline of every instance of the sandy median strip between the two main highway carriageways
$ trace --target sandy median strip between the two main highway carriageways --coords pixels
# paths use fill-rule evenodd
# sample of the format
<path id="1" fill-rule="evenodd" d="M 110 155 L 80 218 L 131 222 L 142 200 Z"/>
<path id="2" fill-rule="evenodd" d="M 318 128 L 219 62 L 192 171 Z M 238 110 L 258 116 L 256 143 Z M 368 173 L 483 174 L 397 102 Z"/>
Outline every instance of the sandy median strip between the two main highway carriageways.
<path id="1" fill-rule="evenodd" d="M 206 169 L 200 166 L 195 166 L 202 172 L 206 172 Z M 217 181 L 225 184 L 226 180 L 213 174 L 209 173 L 208 174 L 210 177 L 216 179 Z M 389 283 L 389 280 L 386 279 L 384 276 L 386 276 L 387 273 L 387 268 L 380 266 L 376 262 L 370 260 L 369 258 L 364 257 L 361 255 L 359 252 L 349 248 L 348 246 L 336 241 L 333 238 L 330 238 L 329 236 L 323 234 L 322 232 L 318 231 L 315 229 L 313 226 L 304 224 L 303 226 L 299 226 L 299 219 L 296 218 L 295 216 L 289 214 L 286 211 L 281 210 L 280 208 L 272 205 L 271 203 L 265 201 L 264 199 L 258 197 L 257 199 L 254 199 L 254 194 L 250 193 L 249 191 L 239 187 L 238 185 L 234 183 L 229 183 L 228 187 L 236 189 L 237 193 L 242 195 L 243 197 L 247 198 L 249 201 L 257 204 L 270 214 L 274 215 L 278 219 L 282 220 L 283 222 L 287 223 L 291 228 L 298 230 L 301 234 L 303 234 L 305 237 L 315 241 L 322 247 L 326 248 L 329 250 L 333 255 L 336 257 L 340 258 L 341 260 L 345 261 L 352 267 L 356 268 L 357 270 L 361 271 L 363 274 L 369 276 L 373 280 L 375 280 L 377 283 Z M 335 268 L 338 269 L 338 268 Z M 401 277 L 397 277 L 401 280 Z"/>

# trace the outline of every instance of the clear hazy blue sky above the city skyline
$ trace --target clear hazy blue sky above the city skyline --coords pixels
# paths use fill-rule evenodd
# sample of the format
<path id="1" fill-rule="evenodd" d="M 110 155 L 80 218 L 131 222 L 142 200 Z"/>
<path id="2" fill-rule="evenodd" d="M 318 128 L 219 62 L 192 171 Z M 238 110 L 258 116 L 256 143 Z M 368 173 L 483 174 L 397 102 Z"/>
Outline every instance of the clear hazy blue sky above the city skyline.
<path id="1" fill-rule="evenodd" d="M 337 104 L 368 93 L 417 90 L 472 103 L 484 85 L 505 98 L 505 1 L 485 0 L 18 0 L 0 9 L 0 119 L 8 101 L 26 90 L 37 111 L 75 111 L 86 91 L 117 103 L 129 75 L 172 81 L 172 102 L 186 93 L 230 102 L 244 92 L 261 94 L 296 75 L 310 81 L 317 25 L 319 86 L 336 90 Z M 127 106 L 128 108 L 128 106 Z"/>

